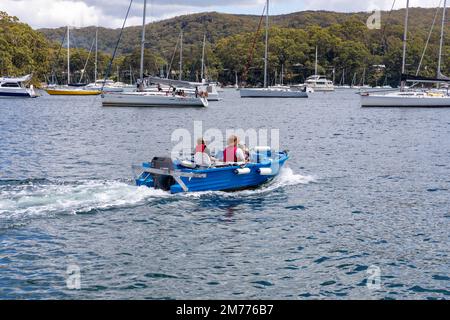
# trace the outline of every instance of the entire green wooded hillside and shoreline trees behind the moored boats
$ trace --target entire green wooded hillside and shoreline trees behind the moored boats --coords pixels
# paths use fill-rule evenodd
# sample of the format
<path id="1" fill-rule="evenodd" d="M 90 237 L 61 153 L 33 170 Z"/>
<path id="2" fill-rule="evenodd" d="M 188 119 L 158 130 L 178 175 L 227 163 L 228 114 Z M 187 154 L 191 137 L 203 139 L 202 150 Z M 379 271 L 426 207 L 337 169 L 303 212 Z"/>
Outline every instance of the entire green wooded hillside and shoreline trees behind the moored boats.
<path id="1" fill-rule="evenodd" d="M 416 73 L 436 9 L 413 8 L 408 34 L 407 71 Z M 318 49 L 318 72 L 334 78 L 336 83 L 397 85 L 402 59 L 404 10 L 384 13 L 382 28 L 366 26 L 368 14 L 303 12 L 276 16 L 269 30 L 269 82 L 279 83 L 283 70 L 284 83 L 303 82 L 314 73 Z M 439 20 L 439 19 L 438 19 Z M 200 80 L 202 39 L 206 35 L 206 74 L 211 80 L 229 84 L 235 76 L 252 85 L 262 82 L 264 30 L 257 31 L 259 17 L 218 13 L 194 14 L 168 19 L 148 26 L 144 69 L 146 74 L 179 76 L 179 40 L 183 30 L 182 78 Z M 420 75 L 434 76 L 437 68 L 440 23 L 437 22 Z M 94 78 L 94 54 L 89 53 L 95 27 L 71 32 L 71 70 L 76 82 L 83 72 L 85 80 Z M 0 12 L 0 74 L 33 73 L 33 81 L 58 80 L 65 83 L 66 50 L 61 48 L 65 28 L 33 30 L 16 17 Z M 106 76 L 117 30 L 99 28 L 99 78 Z M 444 74 L 450 74 L 450 30 L 446 24 L 444 39 Z M 124 30 L 119 54 L 110 68 L 109 77 L 123 82 L 133 81 L 139 74 L 139 27 Z M 255 44 L 254 52 L 251 48 Z M 175 50 L 177 48 L 177 50 Z M 86 60 L 89 61 L 86 64 Z M 253 57 L 253 59 L 250 59 Z M 384 67 L 383 67 L 384 66 Z M 245 76 L 246 75 L 246 76 Z M 365 77 L 363 78 L 363 75 Z M 244 79 L 245 77 L 245 79 Z"/>

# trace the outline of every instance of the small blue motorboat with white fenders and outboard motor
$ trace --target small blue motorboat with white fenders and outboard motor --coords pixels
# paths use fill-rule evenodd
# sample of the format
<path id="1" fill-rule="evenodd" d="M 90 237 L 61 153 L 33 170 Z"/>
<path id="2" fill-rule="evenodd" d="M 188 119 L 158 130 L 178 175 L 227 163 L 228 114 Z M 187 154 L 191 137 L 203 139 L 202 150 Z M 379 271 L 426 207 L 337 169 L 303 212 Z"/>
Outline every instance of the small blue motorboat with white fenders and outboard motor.
<path id="1" fill-rule="evenodd" d="M 287 151 L 273 152 L 257 147 L 250 152 L 249 161 L 242 163 L 215 162 L 208 166 L 192 160 L 172 160 L 154 157 L 144 162 L 136 175 L 136 185 L 179 192 L 236 191 L 256 188 L 278 175 L 286 160 Z M 198 163 L 198 162 L 197 162 Z"/>

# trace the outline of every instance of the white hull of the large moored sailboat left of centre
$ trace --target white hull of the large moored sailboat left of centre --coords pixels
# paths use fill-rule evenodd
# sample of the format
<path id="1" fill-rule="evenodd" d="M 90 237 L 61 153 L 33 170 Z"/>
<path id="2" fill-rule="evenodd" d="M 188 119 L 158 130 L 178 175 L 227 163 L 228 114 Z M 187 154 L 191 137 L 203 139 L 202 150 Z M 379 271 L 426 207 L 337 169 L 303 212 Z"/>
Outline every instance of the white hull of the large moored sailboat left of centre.
<path id="1" fill-rule="evenodd" d="M 125 92 L 102 95 L 102 105 L 110 107 L 207 107 L 208 100 L 165 94 Z"/>

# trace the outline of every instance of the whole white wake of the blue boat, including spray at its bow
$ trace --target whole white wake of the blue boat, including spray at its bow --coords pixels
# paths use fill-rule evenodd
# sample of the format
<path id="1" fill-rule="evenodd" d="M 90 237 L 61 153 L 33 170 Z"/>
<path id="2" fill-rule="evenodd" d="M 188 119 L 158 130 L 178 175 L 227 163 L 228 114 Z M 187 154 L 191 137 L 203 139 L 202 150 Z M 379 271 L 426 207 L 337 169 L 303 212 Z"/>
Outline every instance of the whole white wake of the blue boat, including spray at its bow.
<path id="1" fill-rule="evenodd" d="M 8 225 L 11 221 L 20 222 L 39 216 L 136 207 L 169 197 L 173 200 L 186 200 L 211 195 L 219 198 L 260 196 L 279 188 L 313 181 L 312 176 L 302 176 L 295 174 L 290 168 L 283 168 L 272 182 L 254 190 L 172 195 L 166 191 L 136 187 L 123 181 L 0 180 L 0 227 L 3 223 Z"/>

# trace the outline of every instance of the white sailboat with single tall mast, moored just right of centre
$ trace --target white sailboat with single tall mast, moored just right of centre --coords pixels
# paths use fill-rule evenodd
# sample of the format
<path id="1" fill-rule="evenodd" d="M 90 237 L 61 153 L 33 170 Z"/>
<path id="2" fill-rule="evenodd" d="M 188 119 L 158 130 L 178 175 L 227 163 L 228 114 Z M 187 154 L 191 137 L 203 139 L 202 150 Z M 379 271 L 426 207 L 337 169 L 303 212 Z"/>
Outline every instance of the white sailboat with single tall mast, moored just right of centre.
<path id="1" fill-rule="evenodd" d="M 267 65 L 269 45 L 269 0 L 266 2 L 266 47 L 264 54 L 264 88 L 241 88 L 241 98 L 308 98 L 308 94 L 301 90 L 267 87 Z"/>

